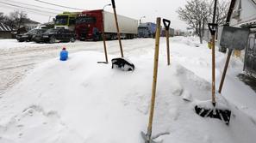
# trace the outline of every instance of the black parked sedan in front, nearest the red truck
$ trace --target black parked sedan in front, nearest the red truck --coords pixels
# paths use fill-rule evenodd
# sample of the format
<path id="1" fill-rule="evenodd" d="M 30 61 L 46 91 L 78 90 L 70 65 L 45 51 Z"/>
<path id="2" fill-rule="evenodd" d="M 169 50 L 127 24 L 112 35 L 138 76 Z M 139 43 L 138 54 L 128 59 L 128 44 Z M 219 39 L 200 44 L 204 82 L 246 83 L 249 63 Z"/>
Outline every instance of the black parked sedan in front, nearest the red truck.
<path id="1" fill-rule="evenodd" d="M 55 43 L 55 42 L 75 42 L 76 35 L 74 32 L 64 29 L 48 29 L 45 33 L 37 34 L 34 36 L 34 41 L 36 43 Z"/>

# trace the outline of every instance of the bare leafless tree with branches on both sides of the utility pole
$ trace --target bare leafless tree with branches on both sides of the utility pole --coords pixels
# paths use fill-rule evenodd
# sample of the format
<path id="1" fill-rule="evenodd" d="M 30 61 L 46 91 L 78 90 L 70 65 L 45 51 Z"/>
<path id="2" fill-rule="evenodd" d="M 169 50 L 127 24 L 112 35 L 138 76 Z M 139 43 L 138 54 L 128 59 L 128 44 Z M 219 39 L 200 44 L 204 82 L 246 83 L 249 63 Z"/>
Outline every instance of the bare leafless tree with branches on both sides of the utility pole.
<path id="1" fill-rule="evenodd" d="M 229 3 L 230 0 L 218 1 L 215 21 L 218 25 L 225 23 Z M 213 4 L 214 0 L 191 0 L 187 2 L 184 9 L 178 8 L 179 18 L 195 29 L 201 44 L 203 43 L 204 29 L 207 28 L 207 23 L 212 22 Z"/>

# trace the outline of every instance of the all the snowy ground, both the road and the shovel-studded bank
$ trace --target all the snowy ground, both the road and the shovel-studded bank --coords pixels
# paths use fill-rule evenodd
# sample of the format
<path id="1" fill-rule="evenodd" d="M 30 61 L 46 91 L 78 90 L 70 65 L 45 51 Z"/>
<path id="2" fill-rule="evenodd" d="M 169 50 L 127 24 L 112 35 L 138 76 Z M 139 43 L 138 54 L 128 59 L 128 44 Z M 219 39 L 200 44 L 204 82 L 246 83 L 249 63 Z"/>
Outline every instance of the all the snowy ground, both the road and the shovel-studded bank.
<path id="1" fill-rule="evenodd" d="M 153 134 L 169 132 L 160 137 L 164 142 L 253 142 L 256 93 L 236 77 L 242 71 L 240 60 L 231 59 L 222 95 L 217 95 L 217 101 L 226 98 L 232 110 L 229 126 L 195 113 L 195 104 L 211 97 L 210 51 L 206 44 L 196 47 L 197 42 L 171 38 L 168 67 L 165 39 L 160 41 Z M 140 131 L 147 131 L 154 40 L 122 44 L 134 72 L 97 64 L 104 60 L 102 42 L 38 45 L 0 40 L 0 142 L 143 142 Z M 60 62 L 64 45 L 73 54 Z M 120 56 L 117 41 L 107 46 L 109 59 Z M 224 62 L 225 55 L 216 52 L 216 88 Z"/>

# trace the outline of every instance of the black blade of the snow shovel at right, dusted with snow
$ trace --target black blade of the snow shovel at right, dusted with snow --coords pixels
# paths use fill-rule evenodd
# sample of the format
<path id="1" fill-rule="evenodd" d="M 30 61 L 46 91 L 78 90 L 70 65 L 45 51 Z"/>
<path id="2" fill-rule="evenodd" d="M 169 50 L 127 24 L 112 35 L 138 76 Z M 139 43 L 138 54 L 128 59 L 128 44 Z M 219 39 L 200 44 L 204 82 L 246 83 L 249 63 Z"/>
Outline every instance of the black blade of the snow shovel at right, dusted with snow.
<path id="1" fill-rule="evenodd" d="M 215 107 L 213 109 L 207 109 L 199 106 L 195 106 L 196 113 L 199 116 L 202 117 L 211 117 L 222 120 L 222 122 L 225 122 L 227 125 L 229 124 L 231 110 L 221 110 L 216 109 Z"/>

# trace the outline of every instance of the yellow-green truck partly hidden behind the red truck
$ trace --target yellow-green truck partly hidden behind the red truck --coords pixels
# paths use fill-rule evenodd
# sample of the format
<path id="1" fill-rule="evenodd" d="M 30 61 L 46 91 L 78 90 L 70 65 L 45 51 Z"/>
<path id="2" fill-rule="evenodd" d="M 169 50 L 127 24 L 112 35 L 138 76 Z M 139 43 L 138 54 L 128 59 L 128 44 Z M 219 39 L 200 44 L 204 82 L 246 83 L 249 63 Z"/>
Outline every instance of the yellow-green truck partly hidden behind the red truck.
<path id="1" fill-rule="evenodd" d="M 80 12 L 63 12 L 56 15 L 54 20 L 54 28 L 65 28 L 71 31 L 75 30 L 76 19 Z"/>

